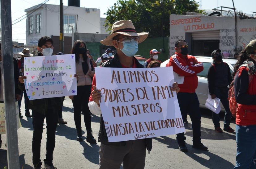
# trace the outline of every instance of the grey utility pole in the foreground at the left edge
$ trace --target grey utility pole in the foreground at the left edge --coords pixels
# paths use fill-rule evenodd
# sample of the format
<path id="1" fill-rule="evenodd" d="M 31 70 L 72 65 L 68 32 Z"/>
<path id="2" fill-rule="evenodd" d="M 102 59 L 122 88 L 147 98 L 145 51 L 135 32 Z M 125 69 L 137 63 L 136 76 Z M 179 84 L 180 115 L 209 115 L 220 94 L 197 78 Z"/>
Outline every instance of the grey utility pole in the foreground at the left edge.
<path id="1" fill-rule="evenodd" d="M 1 28 L 1 49 L 3 57 L 3 77 L 1 77 L 1 79 L 3 81 L 3 96 L 5 103 L 7 161 L 9 169 L 17 169 L 19 168 L 19 147 L 12 54 L 11 0 L 1 0 Z"/>

